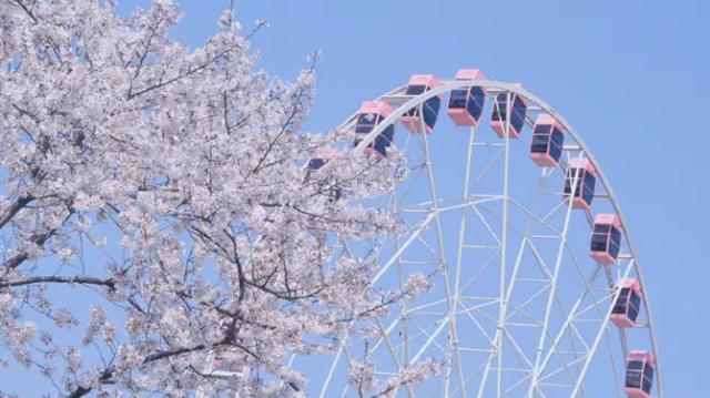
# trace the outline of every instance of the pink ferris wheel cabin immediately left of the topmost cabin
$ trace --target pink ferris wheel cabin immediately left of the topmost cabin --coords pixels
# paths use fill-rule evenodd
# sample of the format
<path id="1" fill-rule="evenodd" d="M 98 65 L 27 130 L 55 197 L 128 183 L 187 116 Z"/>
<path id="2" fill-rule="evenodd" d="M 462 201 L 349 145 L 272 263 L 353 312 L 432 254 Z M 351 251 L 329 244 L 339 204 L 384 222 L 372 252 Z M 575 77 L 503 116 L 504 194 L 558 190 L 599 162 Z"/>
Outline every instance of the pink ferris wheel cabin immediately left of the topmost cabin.
<path id="1" fill-rule="evenodd" d="M 433 74 L 413 74 L 404 94 L 415 96 L 439 85 L 442 83 Z M 410 133 L 432 133 L 438 119 L 439 108 L 442 108 L 442 95 L 435 95 L 426 100 L 422 109 L 417 106 L 408 110 L 399 121 Z M 424 123 L 422 123 L 422 113 L 424 113 Z"/>

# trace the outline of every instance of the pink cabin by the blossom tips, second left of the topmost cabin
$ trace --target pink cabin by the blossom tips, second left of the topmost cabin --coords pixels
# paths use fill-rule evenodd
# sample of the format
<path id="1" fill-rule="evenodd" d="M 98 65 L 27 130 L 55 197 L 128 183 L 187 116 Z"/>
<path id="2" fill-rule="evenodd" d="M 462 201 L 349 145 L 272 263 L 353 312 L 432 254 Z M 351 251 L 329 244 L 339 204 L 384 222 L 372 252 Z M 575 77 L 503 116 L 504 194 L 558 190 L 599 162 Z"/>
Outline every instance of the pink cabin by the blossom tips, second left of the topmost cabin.
<path id="1" fill-rule="evenodd" d="M 385 118 L 392 114 L 392 108 L 383 101 L 365 101 L 357 112 L 355 121 L 355 142 L 357 146 Z M 387 156 L 387 149 L 395 137 L 395 125 L 389 124 L 367 145 L 366 153 L 375 154 L 379 159 Z"/>

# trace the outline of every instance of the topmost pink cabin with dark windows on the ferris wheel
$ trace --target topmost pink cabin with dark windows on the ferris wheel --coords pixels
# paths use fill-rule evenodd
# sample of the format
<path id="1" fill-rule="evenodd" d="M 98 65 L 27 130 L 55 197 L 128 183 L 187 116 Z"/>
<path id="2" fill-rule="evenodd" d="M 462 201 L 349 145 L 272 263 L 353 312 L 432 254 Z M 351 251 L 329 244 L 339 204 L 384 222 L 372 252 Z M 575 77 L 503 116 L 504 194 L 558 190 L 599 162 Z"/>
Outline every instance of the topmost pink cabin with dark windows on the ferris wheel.
<path id="1" fill-rule="evenodd" d="M 477 69 L 462 69 L 456 80 L 483 80 L 484 73 Z M 453 90 L 446 113 L 456 125 L 478 125 L 486 103 L 486 89 L 479 85 Z"/>

